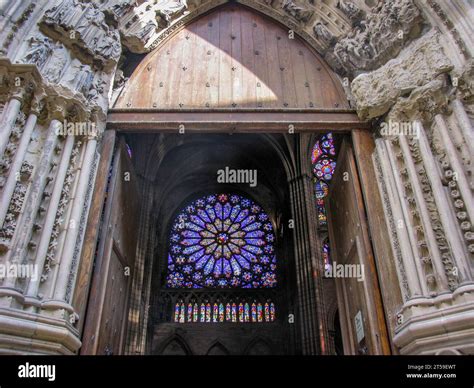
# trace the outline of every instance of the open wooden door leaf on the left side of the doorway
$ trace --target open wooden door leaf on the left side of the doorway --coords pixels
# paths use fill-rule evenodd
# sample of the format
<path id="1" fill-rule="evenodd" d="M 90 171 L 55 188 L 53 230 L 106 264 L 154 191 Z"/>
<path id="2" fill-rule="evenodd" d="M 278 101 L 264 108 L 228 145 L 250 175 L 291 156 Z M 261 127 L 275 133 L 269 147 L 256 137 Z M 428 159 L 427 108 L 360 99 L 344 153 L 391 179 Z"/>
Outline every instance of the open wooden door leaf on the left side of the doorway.
<path id="1" fill-rule="evenodd" d="M 119 140 L 99 235 L 81 354 L 123 354 L 137 244 L 137 179 Z"/>

